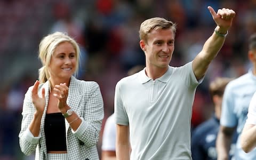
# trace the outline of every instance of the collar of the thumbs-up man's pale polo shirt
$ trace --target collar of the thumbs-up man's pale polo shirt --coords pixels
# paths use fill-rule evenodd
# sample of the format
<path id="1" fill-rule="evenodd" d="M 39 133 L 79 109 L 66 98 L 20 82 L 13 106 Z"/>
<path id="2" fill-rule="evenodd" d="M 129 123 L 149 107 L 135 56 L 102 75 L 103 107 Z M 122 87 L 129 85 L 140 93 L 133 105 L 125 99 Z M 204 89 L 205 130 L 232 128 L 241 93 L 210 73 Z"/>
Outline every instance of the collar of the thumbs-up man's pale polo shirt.
<path id="1" fill-rule="evenodd" d="M 158 81 L 161 81 L 163 83 L 167 83 L 167 81 L 169 80 L 171 74 L 172 74 L 173 68 L 169 66 L 168 70 L 166 71 L 166 73 L 159 78 L 156 78 Z M 149 78 L 146 75 L 146 68 L 144 68 L 143 70 L 141 70 L 139 72 L 139 77 L 140 77 L 140 82 L 143 83 L 147 83 L 148 81 L 150 81 L 152 78 Z"/>

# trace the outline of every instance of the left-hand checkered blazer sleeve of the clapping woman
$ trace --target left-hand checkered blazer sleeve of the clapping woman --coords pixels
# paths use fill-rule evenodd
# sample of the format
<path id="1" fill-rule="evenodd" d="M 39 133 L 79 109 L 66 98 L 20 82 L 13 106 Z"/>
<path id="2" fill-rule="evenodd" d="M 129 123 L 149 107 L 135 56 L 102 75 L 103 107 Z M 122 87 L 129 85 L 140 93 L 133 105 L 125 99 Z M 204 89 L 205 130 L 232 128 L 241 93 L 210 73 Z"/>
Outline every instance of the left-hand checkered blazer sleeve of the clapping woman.
<path id="1" fill-rule="evenodd" d="M 25 94 L 25 99 L 23 101 L 22 108 L 22 121 L 21 121 L 21 130 L 19 133 L 19 143 L 22 153 L 25 155 L 30 155 L 36 150 L 36 146 L 39 141 L 39 137 L 31 136 L 28 129 L 29 124 L 33 120 L 35 108 L 31 100 L 31 90 L 32 87 L 29 87 L 27 93 Z"/>

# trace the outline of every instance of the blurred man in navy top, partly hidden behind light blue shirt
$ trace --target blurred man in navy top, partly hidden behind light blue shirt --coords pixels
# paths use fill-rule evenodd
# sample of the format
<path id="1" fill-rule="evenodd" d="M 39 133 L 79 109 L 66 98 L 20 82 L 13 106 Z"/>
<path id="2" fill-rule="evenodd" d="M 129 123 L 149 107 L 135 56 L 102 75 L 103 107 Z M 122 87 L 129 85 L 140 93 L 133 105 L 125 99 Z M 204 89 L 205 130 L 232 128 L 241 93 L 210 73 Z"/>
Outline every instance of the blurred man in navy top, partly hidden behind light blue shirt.
<path id="1" fill-rule="evenodd" d="M 193 160 L 217 159 L 216 139 L 220 128 L 222 96 L 231 78 L 217 77 L 209 85 L 209 91 L 214 106 L 214 115 L 209 120 L 196 127 L 191 138 L 191 153 Z M 234 154 L 236 136 L 233 137 L 229 159 Z"/>

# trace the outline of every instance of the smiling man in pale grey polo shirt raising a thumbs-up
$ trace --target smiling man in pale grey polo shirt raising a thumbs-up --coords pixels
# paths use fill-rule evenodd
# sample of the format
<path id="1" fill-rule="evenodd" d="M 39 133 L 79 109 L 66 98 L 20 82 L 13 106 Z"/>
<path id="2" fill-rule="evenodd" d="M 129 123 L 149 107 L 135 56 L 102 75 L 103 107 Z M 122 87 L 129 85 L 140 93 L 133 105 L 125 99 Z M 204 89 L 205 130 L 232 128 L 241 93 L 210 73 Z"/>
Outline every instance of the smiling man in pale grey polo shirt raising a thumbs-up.
<path id="1" fill-rule="evenodd" d="M 196 58 L 182 67 L 169 63 L 175 23 L 151 18 L 140 26 L 146 68 L 121 79 L 115 90 L 117 159 L 191 159 L 190 121 L 196 87 L 225 42 L 235 12 L 208 7 L 217 24 Z M 131 142 L 131 155 L 130 155 Z"/>

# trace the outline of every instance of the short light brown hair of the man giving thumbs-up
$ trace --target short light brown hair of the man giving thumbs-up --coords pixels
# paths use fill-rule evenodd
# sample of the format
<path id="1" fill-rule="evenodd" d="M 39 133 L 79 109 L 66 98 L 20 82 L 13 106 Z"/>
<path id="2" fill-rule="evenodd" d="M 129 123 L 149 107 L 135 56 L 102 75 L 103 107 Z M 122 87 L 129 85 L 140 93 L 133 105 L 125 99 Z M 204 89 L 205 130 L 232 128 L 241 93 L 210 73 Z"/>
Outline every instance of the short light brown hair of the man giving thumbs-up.
<path id="1" fill-rule="evenodd" d="M 150 18 L 145 21 L 143 21 L 140 25 L 140 39 L 147 42 L 147 35 L 150 33 L 152 29 L 172 29 L 173 34 L 175 35 L 176 32 L 176 23 L 173 23 L 172 21 L 168 21 L 164 18 Z"/>

